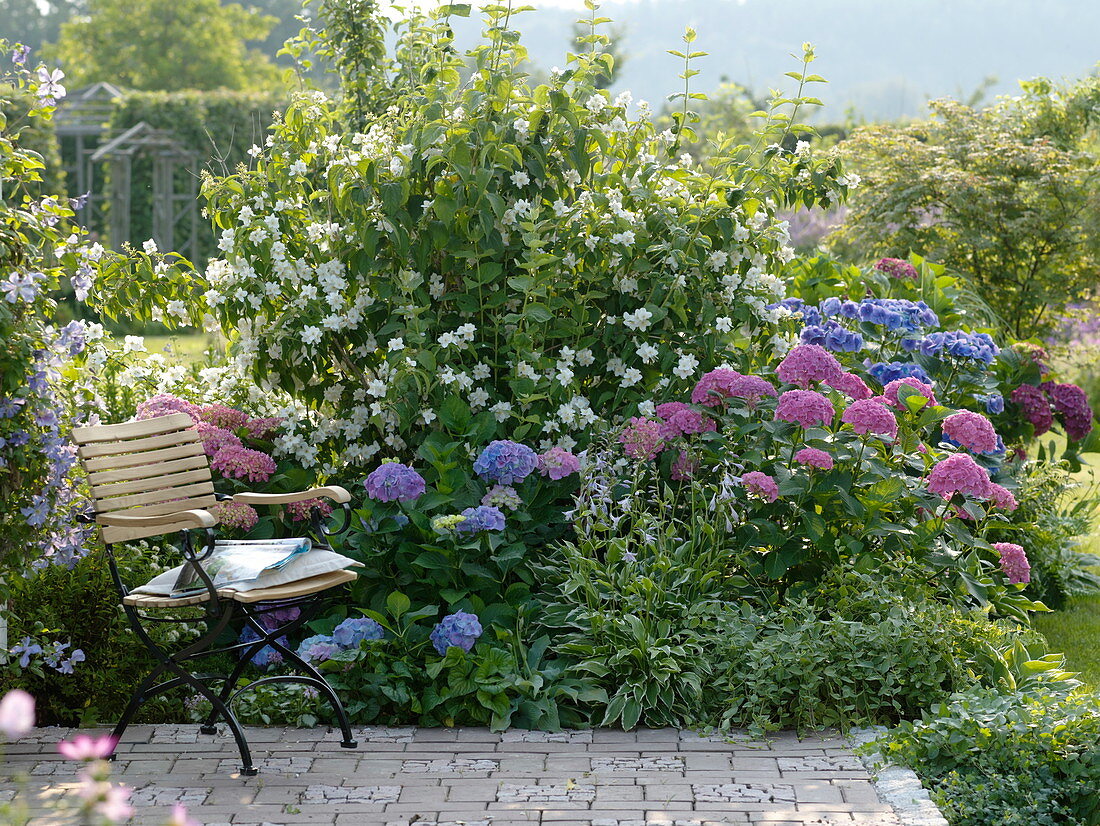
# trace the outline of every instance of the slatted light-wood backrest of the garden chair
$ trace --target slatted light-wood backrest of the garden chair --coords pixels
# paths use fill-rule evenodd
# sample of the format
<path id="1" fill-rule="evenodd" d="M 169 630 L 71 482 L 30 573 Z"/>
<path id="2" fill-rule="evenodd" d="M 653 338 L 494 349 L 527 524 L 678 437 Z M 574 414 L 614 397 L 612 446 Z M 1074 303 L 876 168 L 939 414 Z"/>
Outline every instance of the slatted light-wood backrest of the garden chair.
<path id="1" fill-rule="evenodd" d="M 187 414 L 74 428 L 97 514 L 162 516 L 215 504 L 210 461 Z M 103 526 L 103 541 L 170 533 L 182 525 Z"/>

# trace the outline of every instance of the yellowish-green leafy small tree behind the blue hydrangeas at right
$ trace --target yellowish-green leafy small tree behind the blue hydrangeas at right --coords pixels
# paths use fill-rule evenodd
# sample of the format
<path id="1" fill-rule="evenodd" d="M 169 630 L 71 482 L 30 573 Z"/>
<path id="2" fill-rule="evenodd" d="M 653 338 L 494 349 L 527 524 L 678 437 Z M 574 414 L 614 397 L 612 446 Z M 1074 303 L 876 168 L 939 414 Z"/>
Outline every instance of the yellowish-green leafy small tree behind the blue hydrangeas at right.
<path id="1" fill-rule="evenodd" d="M 1100 80 L 1038 79 L 985 110 L 952 100 L 909 126 L 860 129 L 842 154 L 864 177 L 839 243 L 910 252 L 972 277 L 1016 338 L 1097 286 L 1100 159 L 1090 148 Z"/>

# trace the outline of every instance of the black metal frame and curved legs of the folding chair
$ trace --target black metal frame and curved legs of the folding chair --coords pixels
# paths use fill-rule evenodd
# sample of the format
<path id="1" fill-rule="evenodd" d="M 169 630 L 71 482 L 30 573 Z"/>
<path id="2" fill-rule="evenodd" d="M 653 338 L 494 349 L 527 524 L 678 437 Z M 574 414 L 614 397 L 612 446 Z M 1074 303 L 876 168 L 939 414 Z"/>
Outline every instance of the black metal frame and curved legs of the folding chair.
<path id="1" fill-rule="evenodd" d="M 229 499 L 231 497 L 218 495 L 218 498 Z M 320 510 L 318 508 L 312 509 L 310 514 L 311 530 L 309 532 L 312 535 L 315 547 L 331 550 L 328 537 L 342 533 L 348 529 L 348 526 L 351 522 L 351 510 L 346 503 L 342 505 L 342 516 L 343 520 L 340 528 L 331 530 L 324 524 L 324 519 Z M 95 517 L 89 515 L 89 520 L 94 519 Z M 316 615 L 321 602 L 327 596 L 327 592 L 321 591 L 315 594 L 279 599 L 277 602 L 261 602 L 252 604 L 241 603 L 232 597 L 221 596 L 218 594 L 210 576 L 200 564 L 213 552 L 216 532 L 213 528 L 202 529 L 206 532 L 205 549 L 202 550 L 201 555 L 197 555 L 191 542 L 191 530 L 194 529 L 185 529 L 179 532 L 180 550 L 183 551 L 185 558 L 184 564 L 193 565 L 199 580 L 205 585 L 207 590 L 207 599 L 200 604 L 191 604 L 180 607 L 198 608 L 201 605 L 205 610 L 202 616 L 199 617 L 180 618 L 148 615 L 143 614 L 136 606 L 128 605 L 125 603 L 125 597 L 130 595 L 130 591 L 128 590 L 125 583 L 122 582 L 122 576 L 119 572 L 118 563 L 116 561 L 114 553 L 111 550 L 111 546 L 105 543 L 108 564 L 111 570 L 111 577 L 114 580 L 116 587 L 119 590 L 119 594 L 121 595 L 122 607 L 125 610 L 128 619 L 130 620 L 130 625 L 138 635 L 138 638 L 156 658 L 158 663 L 156 668 L 154 668 L 153 671 L 150 672 L 150 674 L 134 690 L 133 695 L 130 697 L 130 702 L 127 704 L 125 711 L 122 713 L 121 719 L 111 733 L 111 736 L 114 738 L 116 747 L 121 741 L 122 735 L 125 734 L 127 728 L 133 722 L 134 716 L 138 714 L 138 711 L 142 707 L 142 705 L 163 692 L 170 691 L 172 689 L 179 686 L 189 686 L 197 694 L 205 697 L 211 706 L 210 714 L 208 715 L 206 722 L 199 727 L 199 731 L 205 735 L 217 734 L 217 722 L 219 719 L 224 720 L 226 725 L 229 726 L 229 729 L 233 735 L 233 739 L 237 741 L 238 750 L 241 752 L 241 774 L 253 777 L 258 770 L 255 766 L 253 766 L 252 752 L 249 749 L 244 731 L 242 730 L 241 725 L 231 708 L 233 701 L 237 700 L 237 697 L 243 692 L 255 689 L 260 685 L 268 685 L 272 683 L 301 683 L 317 689 L 324 695 L 329 704 L 332 706 L 332 711 L 336 713 L 337 720 L 340 725 L 340 731 L 343 735 L 343 740 L 340 746 L 345 749 L 356 748 L 359 744 L 352 736 L 351 725 L 348 722 L 348 713 L 344 711 L 343 703 L 340 702 L 340 697 L 337 696 L 332 686 L 329 685 L 328 681 L 321 672 L 317 670 L 317 668 L 299 657 L 297 652 L 278 641 L 279 637 L 284 637 L 298 630 L 305 623 L 309 621 L 309 619 Z M 260 619 L 263 615 L 270 612 L 288 607 L 299 608 L 298 617 L 278 626 L 277 628 L 268 629 Z M 234 619 L 243 619 L 245 625 L 256 632 L 258 639 L 251 642 L 237 642 L 231 646 L 212 648 L 211 646 L 213 646 L 226 629 L 231 626 Z M 206 632 L 184 648 L 169 651 L 153 640 L 148 631 L 143 626 L 143 623 L 175 623 L 180 625 L 195 625 L 202 623 L 206 625 Z M 249 661 L 266 646 L 271 646 L 273 649 L 278 651 L 283 656 L 284 663 L 300 673 L 263 676 L 257 680 L 253 680 L 245 685 L 237 687 L 237 682 L 244 673 L 244 669 L 248 667 Z M 227 653 L 230 651 L 239 651 L 240 660 L 229 674 L 197 673 L 184 668 L 185 663 L 193 660 L 213 654 Z M 167 680 L 158 682 L 166 675 L 168 675 Z M 215 693 L 208 686 L 208 683 L 218 681 L 222 682 L 222 686 L 218 693 Z M 112 752 L 109 759 L 113 760 L 114 757 L 116 755 Z"/>

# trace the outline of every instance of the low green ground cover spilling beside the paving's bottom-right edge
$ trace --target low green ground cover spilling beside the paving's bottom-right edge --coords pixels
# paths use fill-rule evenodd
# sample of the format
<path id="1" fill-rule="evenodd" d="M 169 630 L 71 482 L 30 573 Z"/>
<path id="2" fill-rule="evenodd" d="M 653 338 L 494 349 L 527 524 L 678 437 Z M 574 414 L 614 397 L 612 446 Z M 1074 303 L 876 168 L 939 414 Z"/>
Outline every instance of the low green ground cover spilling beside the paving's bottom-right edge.
<path id="1" fill-rule="evenodd" d="M 1100 705 L 1058 683 L 957 694 L 880 742 L 953 826 L 1100 823 Z"/>

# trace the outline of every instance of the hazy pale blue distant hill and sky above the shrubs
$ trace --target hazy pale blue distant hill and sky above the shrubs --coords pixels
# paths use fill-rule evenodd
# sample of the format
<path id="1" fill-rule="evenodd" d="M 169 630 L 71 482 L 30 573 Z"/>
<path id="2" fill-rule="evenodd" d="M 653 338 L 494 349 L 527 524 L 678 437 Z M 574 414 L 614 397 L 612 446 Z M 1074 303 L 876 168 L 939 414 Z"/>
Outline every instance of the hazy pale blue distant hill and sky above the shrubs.
<path id="1" fill-rule="evenodd" d="M 549 7 L 519 15 L 532 62 L 563 66 L 571 25 L 584 14 Z M 696 66 L 698 91 L 723 77 L 757 90 L 789 82 L 790 54 L 812 42 L 814 70 L 829 80 L 813 93 L 828 120 L 848 107 L 869 120 L 919 117 L 928 98 L 969 96 L 990 76 L 998 78 L 990 93 L 1012 93 L 1016 79 L 1079 77 L 1100 60 L 1093 0 L 618 0 L 601 14 L 625 31 L 628 62 L 614 89 L 629 88 L 654 109 L 678 88 L 679 62 L 667 49 L 681 45 L 686 25 L 710 53 Z M 460 43 L 477 30 L 475 20 L 461 21 Z"/>

